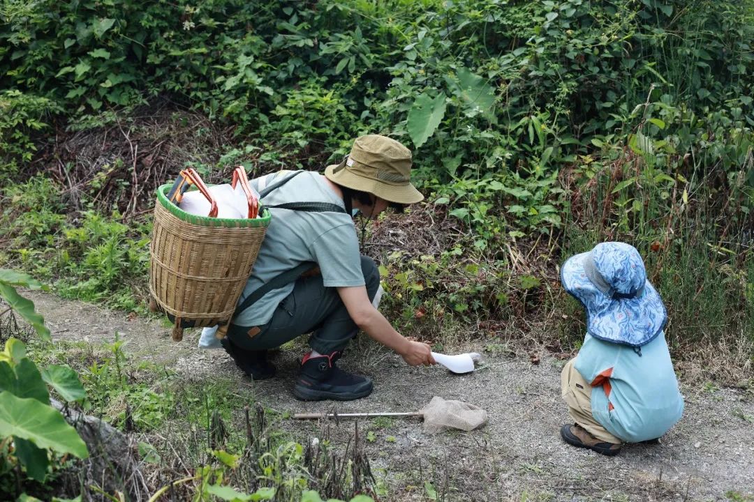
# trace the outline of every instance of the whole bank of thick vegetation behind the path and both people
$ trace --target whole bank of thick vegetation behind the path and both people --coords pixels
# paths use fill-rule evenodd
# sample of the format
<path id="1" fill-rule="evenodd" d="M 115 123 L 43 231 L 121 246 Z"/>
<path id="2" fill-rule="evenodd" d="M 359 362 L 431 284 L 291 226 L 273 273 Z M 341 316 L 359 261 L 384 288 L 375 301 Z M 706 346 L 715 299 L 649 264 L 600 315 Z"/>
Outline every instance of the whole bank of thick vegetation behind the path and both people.
<path id="1" fill-rule="evenodd" d="M 0 266 L 143 312 L 158 184 L 323 169 L 381 133 L 428 195 L 363 230 L 404 334 L 568 353 L 557 266 L 624 240 L 676 360 L 740 383 L 752 40 L 751 0 L 2 0 Z"/>

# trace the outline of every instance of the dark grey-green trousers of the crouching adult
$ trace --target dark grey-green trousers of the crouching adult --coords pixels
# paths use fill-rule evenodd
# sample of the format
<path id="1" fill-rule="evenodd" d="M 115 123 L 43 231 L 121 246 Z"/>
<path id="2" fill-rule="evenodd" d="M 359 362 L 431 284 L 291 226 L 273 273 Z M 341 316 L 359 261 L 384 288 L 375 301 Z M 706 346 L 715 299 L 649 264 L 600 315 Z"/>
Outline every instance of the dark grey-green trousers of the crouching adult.
<path id="1" fill-rule="evenodd" d="M 371 301 L 379 288 L 379 270 L 371 258 L 362 256 L 361 271 Z M 231 324 L 228 338 L 245 350 L 264 350 L 311 333 L 309 346 L 320 354 L 330 354 L 345 348 L 359 330 L 336 288 L 326 288 L 321 275 L 299 278 L 270 321 L 258 329 Z"/>

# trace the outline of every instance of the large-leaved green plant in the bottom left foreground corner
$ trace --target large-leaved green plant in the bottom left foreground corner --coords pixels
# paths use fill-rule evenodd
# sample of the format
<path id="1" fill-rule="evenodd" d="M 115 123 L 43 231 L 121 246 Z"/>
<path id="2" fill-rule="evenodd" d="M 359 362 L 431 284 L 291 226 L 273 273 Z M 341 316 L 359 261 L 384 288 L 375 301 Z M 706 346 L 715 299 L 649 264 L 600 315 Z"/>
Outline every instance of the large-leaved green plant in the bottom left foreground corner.
<path id="1" fill-rule="evenodd" d="M 26 320 L 44 340 L 50 331 L 34 304 L 16 291 L 17 287 L 41 288 L 29 275 L 0 269 L 0 298 Z M 38 482 L 47 479 L 51 455 L 70 454 L 87 458 L 87 446 L 63 415 L 50 404 L 50 391 L 73 403 L 84 399 L 84 388 L 67 366 L 51 364 L 39 370 L 26 354 L 26 345 L 8 339 L 0 352 L 0 477 L 20 464 L 26 475 Z"/>

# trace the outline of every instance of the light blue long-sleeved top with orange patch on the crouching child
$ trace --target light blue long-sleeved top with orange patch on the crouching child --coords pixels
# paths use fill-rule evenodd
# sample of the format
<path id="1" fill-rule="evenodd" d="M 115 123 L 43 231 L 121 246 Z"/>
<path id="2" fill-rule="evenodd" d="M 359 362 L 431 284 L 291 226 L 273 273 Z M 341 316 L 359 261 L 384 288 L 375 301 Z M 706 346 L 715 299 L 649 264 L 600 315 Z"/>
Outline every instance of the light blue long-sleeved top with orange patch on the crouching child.
<path id="1" fill-rule="evenodd" d="M 593 417 L 627 443 L 661 437 L 683 414 L 665 333 L 640 349 L 587 334 L 575 362 L 593 386 Z"/>

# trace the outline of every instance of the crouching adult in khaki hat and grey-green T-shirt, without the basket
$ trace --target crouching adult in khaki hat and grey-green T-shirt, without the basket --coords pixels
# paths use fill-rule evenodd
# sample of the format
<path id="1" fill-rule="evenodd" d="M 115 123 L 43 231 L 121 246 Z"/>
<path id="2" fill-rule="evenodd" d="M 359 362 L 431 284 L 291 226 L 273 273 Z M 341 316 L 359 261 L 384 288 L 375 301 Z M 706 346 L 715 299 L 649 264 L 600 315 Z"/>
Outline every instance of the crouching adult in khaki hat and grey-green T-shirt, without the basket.
<path id="1" fill-rule="evenodd" d="M 372 392 L 366 376 L 336 366 L 359 328 L 403 356 L 434 364 L 429 345 L 397 333 L 372 301 L 379 272 L 360 256 L 351 215 L 374 219 L 423 199 L 409 180 L 411 152 L 381 135 L 357 138 L 351 154 L 317 172 L 251 181 L 272 214 L 259 256 L 222 345 L 252 379 L 270 378 L 267 351 L 311 333 L 293 388 L 302 400 L 354 400 Z"/>

